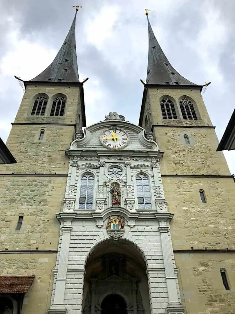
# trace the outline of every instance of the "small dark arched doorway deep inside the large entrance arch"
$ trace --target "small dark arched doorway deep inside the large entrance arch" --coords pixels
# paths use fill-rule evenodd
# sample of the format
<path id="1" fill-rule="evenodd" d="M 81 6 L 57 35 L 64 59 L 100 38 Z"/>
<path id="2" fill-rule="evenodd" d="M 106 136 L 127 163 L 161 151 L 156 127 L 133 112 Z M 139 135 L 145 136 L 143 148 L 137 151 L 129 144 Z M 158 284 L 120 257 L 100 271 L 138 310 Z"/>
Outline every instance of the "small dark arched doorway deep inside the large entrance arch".
<path id="1" fill-rule="evenodd" d="M 107 295 L 101 303 L 101 314 L 127 314 L 127 304 L 118 294 Z"/>

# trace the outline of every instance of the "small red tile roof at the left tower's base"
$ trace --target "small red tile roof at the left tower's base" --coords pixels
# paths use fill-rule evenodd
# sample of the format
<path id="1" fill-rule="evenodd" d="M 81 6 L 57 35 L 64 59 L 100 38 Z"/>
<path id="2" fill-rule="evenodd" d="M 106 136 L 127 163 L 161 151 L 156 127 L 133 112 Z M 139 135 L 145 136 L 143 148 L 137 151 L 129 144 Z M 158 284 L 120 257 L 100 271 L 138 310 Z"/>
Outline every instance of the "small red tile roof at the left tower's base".
<path id="1" fill-rule="evenodd" d="M 32 276 L 0 276 L 0 293 L 26 293 L 32 284 Z"/>

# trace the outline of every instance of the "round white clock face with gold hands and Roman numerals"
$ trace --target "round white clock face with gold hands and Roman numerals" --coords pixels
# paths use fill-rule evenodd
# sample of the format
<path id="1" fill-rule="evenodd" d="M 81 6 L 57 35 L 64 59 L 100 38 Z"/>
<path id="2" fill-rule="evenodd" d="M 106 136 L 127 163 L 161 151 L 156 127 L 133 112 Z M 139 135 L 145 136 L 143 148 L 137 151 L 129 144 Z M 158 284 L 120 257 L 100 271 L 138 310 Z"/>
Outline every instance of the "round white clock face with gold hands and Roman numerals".
<path id="1" fill-rule="evenodd" d="M 113 127 L 101 134 L 100 141 L 107 149 L 119 150 L 127 146 L 129 139 L 123 130 Z"/>

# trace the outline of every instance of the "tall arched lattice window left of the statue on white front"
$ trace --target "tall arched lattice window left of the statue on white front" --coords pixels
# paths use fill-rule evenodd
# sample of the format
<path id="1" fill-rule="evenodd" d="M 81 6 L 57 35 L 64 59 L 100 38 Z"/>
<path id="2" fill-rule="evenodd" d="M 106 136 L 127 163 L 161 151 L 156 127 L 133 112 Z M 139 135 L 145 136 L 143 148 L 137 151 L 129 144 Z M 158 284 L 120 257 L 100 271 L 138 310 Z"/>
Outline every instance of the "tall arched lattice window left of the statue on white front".
<path id="1" fill-rule="evenodd" d="M 81 177 L 80 196 L 78 208 L 92 208 L 94 195 L 94 177 L 86 173 Z"/>

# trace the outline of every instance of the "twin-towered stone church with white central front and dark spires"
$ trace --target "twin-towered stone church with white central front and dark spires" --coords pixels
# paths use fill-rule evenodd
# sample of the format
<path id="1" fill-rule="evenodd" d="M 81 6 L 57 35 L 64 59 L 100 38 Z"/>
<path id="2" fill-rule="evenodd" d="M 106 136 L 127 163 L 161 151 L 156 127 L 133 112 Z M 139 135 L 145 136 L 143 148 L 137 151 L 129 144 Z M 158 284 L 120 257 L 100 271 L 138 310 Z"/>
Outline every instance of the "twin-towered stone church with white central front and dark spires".
<path id="1" fill-rule="evenodd" d="M 77 14 L 77 12 L 76 12 Z M 75 18 L 55 60 L 24 81 L 0 169 L 0 311 L 235 311 L 234 181 L 201 97 L 151 28 L 138 125 L 86 127 Z"/>

